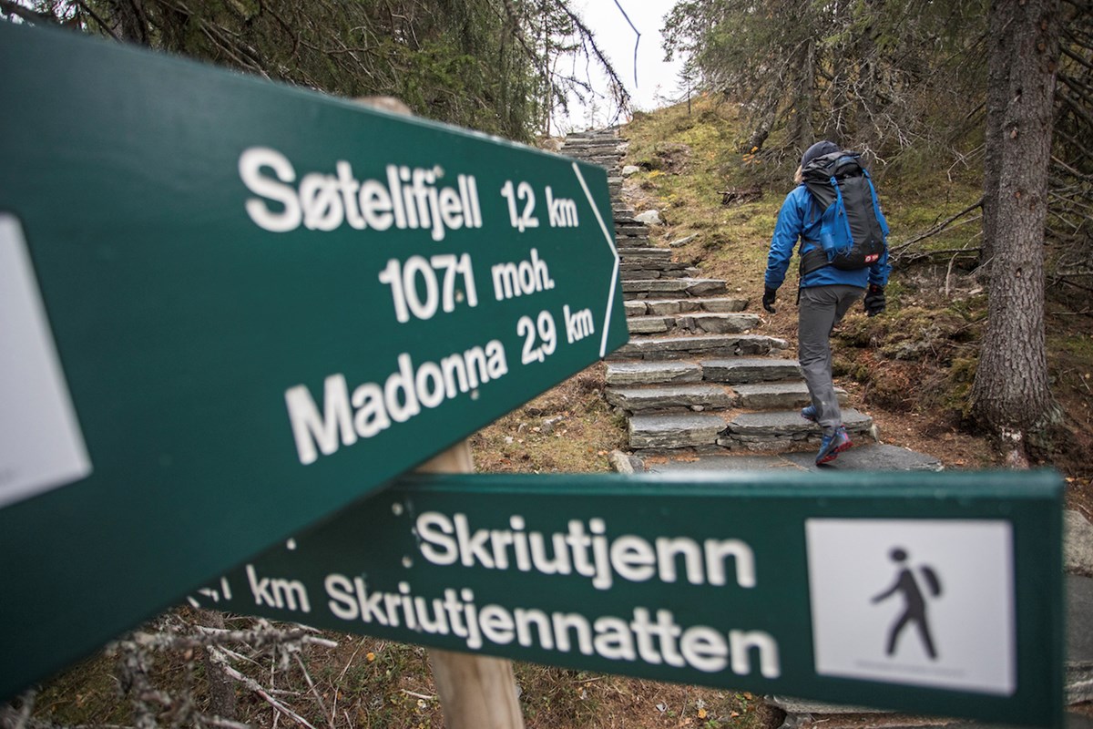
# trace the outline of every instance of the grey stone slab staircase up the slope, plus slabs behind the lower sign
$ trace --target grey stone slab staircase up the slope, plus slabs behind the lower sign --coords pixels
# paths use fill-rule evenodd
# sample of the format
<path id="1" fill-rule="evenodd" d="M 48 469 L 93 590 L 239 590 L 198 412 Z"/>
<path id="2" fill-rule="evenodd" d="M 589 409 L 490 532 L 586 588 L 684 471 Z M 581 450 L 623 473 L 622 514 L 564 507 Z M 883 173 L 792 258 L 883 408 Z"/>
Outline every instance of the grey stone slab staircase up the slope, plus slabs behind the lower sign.
<path id="1" fill-rule="evenodd" d="M 631 339 L 608 358 L 606 395 L 627 414 L 633 454 L 620 454 L 612 463 L 620 471 L 651 472 L 815 469 L 820 430 L 799 414 L 808 393 L 787 342 L 753 333 L 759 316 L 747 311 L 748 299 L 729 294 L 725 281 L 703 279 L 697 269 L 673 261 L 671 247 L 650 244 L 648 226 L 635 220 L 622 196 L 625 149 L 615 130 L 573 134 L 562 148 L 606 167 L 611 188 Z M 825 468 L 941 469 L 931 456 L 877 443 L 868 415 L 844 408 L 843 418 L 855 447 Z M 1073 705 L 1093 701 L 1093 526 L 1077 513 L 1069 516 L 1066 683 L 1067 704 Z M 763 701 L 785 714 L 779 729 L 984 726 L 777 696 Z M 1093 721 L 1068 714 L 1067 726 L 1093 729 Z"/>

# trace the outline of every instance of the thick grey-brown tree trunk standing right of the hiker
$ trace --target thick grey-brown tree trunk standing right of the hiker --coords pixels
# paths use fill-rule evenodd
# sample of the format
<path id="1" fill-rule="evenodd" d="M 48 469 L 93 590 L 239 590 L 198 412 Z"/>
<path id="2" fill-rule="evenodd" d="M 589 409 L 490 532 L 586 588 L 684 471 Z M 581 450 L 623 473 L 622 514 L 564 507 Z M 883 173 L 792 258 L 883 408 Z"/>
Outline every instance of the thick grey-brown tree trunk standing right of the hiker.
<path id="1" fill-rule="evenodd" d="M 991 2 L 987 158 L 990 200 L 987 333 L 972 388 L 973 418 L 1024 461 L 1025 436 L 1053 407 L 1044 333 L 1044 223 L 1059 0 Z M 1001 37 L 998 37 L 1001 36 Z"/>

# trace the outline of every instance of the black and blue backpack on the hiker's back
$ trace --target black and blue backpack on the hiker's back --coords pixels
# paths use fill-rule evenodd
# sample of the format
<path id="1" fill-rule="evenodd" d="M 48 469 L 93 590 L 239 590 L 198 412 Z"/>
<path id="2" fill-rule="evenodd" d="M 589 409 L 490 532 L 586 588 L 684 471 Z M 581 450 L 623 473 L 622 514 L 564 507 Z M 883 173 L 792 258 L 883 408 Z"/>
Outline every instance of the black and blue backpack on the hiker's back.
<path id="1" fill-rule="evenodd" d="M 809 162 L 801 175 L 822 211 L 820 248 L 801 256 L 801 275 L 824 266 L 860 271 L 879 261 L 889 227 L 860 155 L 832 152 Z"/>

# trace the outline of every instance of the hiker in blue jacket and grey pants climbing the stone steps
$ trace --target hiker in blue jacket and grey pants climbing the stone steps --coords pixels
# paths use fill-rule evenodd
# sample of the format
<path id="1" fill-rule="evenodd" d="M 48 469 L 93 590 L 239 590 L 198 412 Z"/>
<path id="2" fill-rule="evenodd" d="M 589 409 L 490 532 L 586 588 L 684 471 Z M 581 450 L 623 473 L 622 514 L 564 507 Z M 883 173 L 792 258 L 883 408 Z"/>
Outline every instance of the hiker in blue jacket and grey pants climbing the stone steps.
<path id="1" fill-rule="evenodd" d="M 884 286 L 890 267 L 883 237 L 888 233 L 888 223 L 877 204 L 868 173 L 865 173 L 857 161 L 858 155 L 843 152 L 837 144 L 828 141 L 816 142 L 804 152 L 795 176 L 797 187 L 786 196 L 781 210 L 778 211 L 764 275 L 763 308 L 774 314 L 775 295 L 786 278 L 789 260 L 800 240 L 797 348 L 811 399 L 811 403 L 801 410 L 801 418 L 823 428 L 820 452 L 815 459 L 818 466 L 834 460 L 839 452 L 853 445 L 843 427 L 843 414 L 832 383 L 831 332 L 862 294 L 866 314 L 869 316 L 880 314 L 885 306 Z M 836 195 L 827 180 L 836 179 L 839 175 L 849 177 L 851 174 L 857 175 L 859 185 L 854 188 L 857 191 L 847 188 L 845 193 L 837 196 L 838 205 L 845 203 L 846 213 L 846 217 L 838 217 L 838 205 L 834 204 Z M 862 191 L 862 179 L 868 186 L 867 192 Z M 842 188 L 843 181 L 838 181 L 838 185 Z M 819 198 L 818 192 L 827 195 L 832 204 L 824 204 L 826 201 Z M 862 213 L 862 201 L 867 197 L 871 210 Z M 831 240 L 838 235 L 848 238 L 846 232 L 857 225 L 854 220 L 847 223 L 847 217 L 866 213 L 870 219 L 866 225 L 881 238 L 881 248 L 862 259 L 866 261 L 862 268 L 847 270 L 853 267 L 844 267 L 837 260 L 832 260 L 832 255 L 824 249 L 821 240 Z M 834 226 L 836 222 L 841 223 L 837 227 Z M 861 237 L 858 233 L 853 235 Z M 830 248 L 828 245 L 828 250 Z"/>

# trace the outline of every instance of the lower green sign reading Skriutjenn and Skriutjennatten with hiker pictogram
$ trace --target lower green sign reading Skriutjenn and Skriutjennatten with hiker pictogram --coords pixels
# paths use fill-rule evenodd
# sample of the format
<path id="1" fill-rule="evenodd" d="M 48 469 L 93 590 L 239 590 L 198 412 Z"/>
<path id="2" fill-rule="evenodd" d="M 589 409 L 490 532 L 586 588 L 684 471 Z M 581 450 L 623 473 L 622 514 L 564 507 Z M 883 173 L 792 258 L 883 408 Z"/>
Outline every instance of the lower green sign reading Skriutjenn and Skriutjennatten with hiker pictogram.
<path id="1" fill-rule="evenodd" d="M 414 477 L 197 604 L 451 650 L 1061 726 L 1037 473 Z"/>

